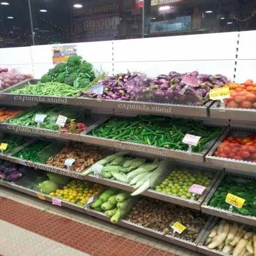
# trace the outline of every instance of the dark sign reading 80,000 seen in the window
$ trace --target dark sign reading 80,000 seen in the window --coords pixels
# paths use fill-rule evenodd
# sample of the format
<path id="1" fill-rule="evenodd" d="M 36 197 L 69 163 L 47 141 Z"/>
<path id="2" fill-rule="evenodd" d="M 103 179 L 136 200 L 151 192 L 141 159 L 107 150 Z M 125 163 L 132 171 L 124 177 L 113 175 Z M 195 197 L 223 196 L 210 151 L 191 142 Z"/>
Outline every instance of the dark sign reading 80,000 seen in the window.
<path id="1" fill-rule="evenodd" d="M 71 4 L 76 1 L 69 0 Z M 82 1 L 71 12 L 73 41 L 112 40 L 118 34 L 119 5 L 113 0 Z"/>

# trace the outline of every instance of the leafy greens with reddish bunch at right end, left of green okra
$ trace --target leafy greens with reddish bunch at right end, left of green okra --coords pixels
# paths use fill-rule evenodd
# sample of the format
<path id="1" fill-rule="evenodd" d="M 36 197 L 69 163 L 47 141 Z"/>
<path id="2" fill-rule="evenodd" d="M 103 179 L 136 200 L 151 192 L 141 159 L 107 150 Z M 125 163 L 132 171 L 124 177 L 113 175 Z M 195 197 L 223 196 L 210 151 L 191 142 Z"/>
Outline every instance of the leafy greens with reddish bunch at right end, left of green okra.
<path id="1" fill-rule="evenodd" d="M 44 129 L 59 130 L 59 126 L 57 126 L 56 124 L 59 115 L 68 117 L 65 127 L 62 127 L 60 129 L 62 132 L 79 133 L 84 131 L 87 127 L 85 126 L 85 124 L 74 122 L 76 118 L 79 118 L 80 114 L 76 113 L 73 107 L 63 107 L 60 105 L 40 105 L 33 108 L 32 110 L 27 110 L 26 112 L 23 112 L 16 118 L 10 119 L 7 123 L 16 126 L 37 127 L 37 123 L 35 123 L 35 115 L 37 114 L 46 115 L 43 123 L 40 123 L 40 127 Z"/>

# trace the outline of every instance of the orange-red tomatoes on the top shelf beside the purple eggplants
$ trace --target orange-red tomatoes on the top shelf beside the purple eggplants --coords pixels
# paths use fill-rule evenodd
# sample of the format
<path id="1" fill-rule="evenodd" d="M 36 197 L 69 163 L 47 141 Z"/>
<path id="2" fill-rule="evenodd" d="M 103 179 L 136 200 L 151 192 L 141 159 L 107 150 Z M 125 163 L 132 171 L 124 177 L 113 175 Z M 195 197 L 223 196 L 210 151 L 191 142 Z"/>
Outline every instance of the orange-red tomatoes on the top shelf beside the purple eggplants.
<path id="1" fill-rule="evenodd" d="M 226 84 L 229 87 L 230 98 L 224 99 L 226 107 L 256 108 L 256 84 L 251 79 L 242 85 L 236 83 Z"/>

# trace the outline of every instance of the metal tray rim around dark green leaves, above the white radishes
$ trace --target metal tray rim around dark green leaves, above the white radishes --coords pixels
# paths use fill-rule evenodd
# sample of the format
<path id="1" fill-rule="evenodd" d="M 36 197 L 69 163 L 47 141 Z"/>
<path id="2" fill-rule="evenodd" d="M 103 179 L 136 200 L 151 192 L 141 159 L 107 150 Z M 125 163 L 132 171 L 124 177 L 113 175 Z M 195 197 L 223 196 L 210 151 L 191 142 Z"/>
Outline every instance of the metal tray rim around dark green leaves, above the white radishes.
<path id="1" fill-rule="evenodd" d="M 219 184 L 221 183 L 221 181 L 225 175 L 226 175 L 225 173 L 221 174 L 221 176 L 219 177 L 219 179 L 213 186 L 212 190 L 210 191 L 208 196 L 205 198 L 205 201 L 201 205 L 201 211 L 203 213 L 218 216 L 218 217 L 221 217 L 224 219 L 230 219 L 231 221 L 237 221 L 237 222 L 241 222 L 241 223 L 256 227 L 256 217 L 254 217 L 254 216 L 241 215 L 238 213 L 231 212 L 229 210 L 223 210 L 221 208 L 216 208 L 216 207 L 212 207 L 212 206 L 208 205 L 208 202 L 212 198 L 213 194 L 217 190 Z M 229 175 L 232 175 L 232 174 L 229 174 Z M 233 174 L 233 175 L 235 175 L 235 174 Z"/>

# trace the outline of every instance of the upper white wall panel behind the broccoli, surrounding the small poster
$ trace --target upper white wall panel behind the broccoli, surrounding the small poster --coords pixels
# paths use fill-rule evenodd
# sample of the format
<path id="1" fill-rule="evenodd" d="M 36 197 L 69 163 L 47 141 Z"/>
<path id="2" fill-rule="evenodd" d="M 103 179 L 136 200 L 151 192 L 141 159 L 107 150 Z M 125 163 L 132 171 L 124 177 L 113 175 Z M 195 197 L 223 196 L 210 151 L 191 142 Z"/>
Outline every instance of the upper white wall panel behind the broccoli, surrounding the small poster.
<path id="1" fill-rule="evenodd" d="M 112 41 L 71 44 L 77 45 L 77 54 L 88 62 L 112 62 Z M 52 46 L 60 45 L 63 44 L 31 46 L 33 62 L 35 64 L 52 63 Z"/>

